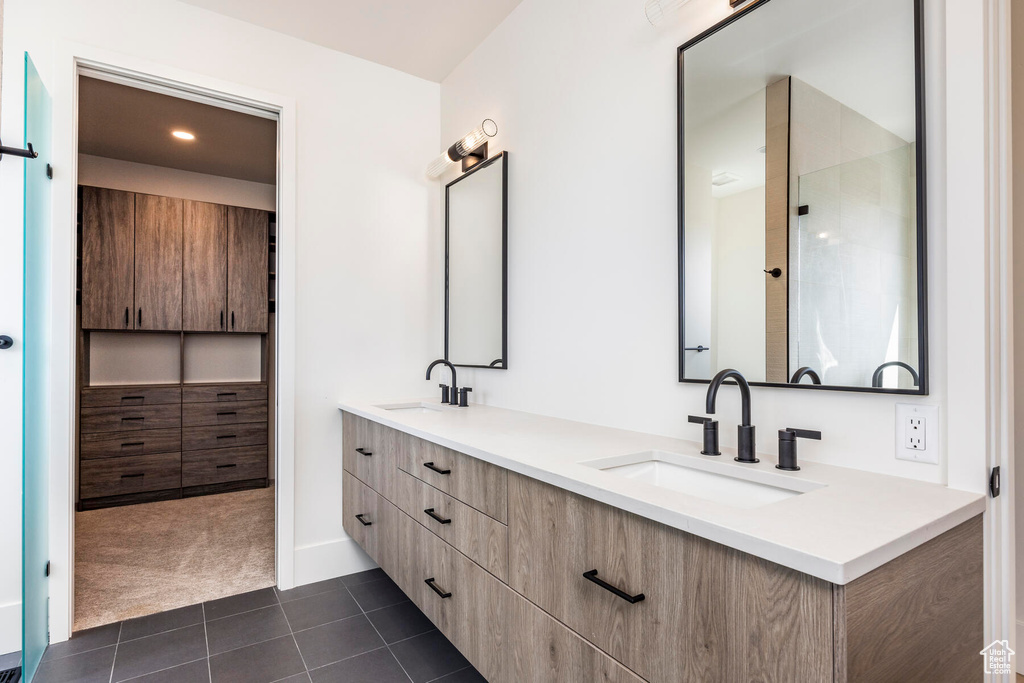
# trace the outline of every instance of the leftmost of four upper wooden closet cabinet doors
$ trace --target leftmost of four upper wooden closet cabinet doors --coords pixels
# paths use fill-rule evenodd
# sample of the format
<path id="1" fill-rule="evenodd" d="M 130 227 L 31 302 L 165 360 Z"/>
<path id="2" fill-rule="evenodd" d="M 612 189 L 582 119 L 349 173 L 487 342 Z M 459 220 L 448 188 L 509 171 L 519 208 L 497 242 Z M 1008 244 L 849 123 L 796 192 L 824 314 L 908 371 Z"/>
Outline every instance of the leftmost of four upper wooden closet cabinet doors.
<path id="1" fill-rule="evenodd" d="M 135 195 L 82 187 L 82 328 L 133 330 Z"/>

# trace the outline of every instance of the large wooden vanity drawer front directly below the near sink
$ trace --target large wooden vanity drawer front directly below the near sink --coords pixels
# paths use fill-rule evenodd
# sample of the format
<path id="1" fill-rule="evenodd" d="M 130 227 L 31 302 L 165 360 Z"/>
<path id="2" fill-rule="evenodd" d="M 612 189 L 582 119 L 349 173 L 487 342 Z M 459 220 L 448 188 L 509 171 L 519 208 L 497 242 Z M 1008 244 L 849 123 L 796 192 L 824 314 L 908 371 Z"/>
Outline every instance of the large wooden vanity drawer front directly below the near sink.
<path id="1" fill-rule="evenodd" d="M 829 584 L 516 474 L 509 585 L 651 683 L 831 680 Z"/>

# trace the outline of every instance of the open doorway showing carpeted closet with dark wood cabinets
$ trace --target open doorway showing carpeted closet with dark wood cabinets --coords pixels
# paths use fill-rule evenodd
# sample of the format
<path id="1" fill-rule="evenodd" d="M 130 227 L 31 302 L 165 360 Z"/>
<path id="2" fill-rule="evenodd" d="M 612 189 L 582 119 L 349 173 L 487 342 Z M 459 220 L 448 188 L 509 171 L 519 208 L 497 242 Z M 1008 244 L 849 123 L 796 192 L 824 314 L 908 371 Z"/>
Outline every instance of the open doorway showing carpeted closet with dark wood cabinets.
<path id="1" fill-rule="evenodd" d="M 278 121 L 78 80 L 73 631 L 275 585 Z"/>

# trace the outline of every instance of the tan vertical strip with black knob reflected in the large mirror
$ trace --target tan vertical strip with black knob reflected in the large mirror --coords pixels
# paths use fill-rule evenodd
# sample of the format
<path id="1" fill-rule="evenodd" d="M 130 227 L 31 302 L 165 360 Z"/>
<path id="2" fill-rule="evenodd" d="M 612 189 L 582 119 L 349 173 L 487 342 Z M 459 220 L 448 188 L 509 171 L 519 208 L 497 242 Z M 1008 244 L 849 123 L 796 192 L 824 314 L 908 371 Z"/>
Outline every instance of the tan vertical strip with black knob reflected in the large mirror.
<path id="1" fill-rule="evenodd" d="M 790 77 L 765 96 L 765 379 L 786 383 L 790 369 Z"/>

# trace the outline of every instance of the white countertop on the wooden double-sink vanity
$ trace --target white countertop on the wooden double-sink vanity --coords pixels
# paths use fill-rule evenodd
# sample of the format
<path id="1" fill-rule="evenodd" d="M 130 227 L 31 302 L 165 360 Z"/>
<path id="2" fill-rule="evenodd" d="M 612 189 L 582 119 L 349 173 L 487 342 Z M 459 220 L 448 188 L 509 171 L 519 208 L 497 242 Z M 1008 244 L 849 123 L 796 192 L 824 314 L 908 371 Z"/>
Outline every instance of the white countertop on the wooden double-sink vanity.
<path id="1" fill-rule="evenodd" d="M 730 449 L 701 456 L 693 441 L 487 405 L 381 408 L 421 402 L 438 404 L 346 401 L 339 409 L 834 584 L 848 584 L 985 510 L 981 494 L 808 460 L 800 462 L 799 472 L 783 473 L 775 468 L 774 453 L 759 453 L 761 462 L 749 465 L 735 462 Z M 774 451 L 774 431 L 763 432 L 761 441 Z M 809 490 L 743 508 L 583 464 L 647 451 L 679 454 L 698 467 L 715 461 L 720 473 L 774 481 L 784 476 L 797 480 L 795 488 Z"/>

